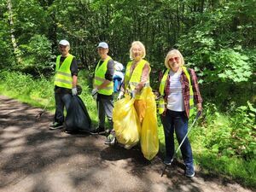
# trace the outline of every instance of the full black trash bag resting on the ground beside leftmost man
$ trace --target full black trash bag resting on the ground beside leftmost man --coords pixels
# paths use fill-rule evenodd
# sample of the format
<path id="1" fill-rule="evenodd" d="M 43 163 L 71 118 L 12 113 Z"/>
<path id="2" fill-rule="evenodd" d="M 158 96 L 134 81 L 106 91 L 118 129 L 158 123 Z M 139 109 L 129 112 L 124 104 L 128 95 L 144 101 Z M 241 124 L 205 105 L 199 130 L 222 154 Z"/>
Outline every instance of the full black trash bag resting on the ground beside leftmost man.
<path id="1" fill-rule="evenodd" d="M 79 96 L 72 96 L 70 107 L 67 109 L 65 119 L 66 131 L 90 132 L 91 119 L 84 102 Z"/>

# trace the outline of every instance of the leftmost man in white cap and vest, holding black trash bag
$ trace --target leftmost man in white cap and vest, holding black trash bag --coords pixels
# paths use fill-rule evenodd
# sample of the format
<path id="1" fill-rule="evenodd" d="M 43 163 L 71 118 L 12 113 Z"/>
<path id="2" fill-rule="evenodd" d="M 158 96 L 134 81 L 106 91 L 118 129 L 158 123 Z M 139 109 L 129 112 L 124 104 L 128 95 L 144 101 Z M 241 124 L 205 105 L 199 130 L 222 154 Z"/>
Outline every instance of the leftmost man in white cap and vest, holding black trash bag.
<path id="1" fill-rule="evenodd" d="M 50 130 L 63 128 L 64 107 L 69 108 L 72 96 L 78 94 L 78 63 L 69 54 L 70 44 L 63 39 L 59 43 L 61 55 L 57 56 L 55 65 L 55 118 Z"/>

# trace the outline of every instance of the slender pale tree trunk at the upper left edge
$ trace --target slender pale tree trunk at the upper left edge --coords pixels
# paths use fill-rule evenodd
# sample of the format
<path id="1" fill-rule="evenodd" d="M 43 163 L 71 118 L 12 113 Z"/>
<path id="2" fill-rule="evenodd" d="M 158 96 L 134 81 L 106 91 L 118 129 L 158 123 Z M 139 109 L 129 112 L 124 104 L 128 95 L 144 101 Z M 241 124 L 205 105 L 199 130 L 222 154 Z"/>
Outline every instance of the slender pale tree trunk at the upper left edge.
<path id="1" fill-rule="evenodd" d="M 12 2 L 11 0 L 7 0 L 7 9 L 9 13 L 9 28 L 10 28 L 10 36 L 14 48 L 14 54 L 15 54 L 15 60 L 17 64 L 20 64 L 21 62 L 21 57 L 20 57 L 20 49 L 17 46 L 17 41 L 15 38 L 15 27 L 14 27 L 14 20 L 13 20 L 13 9 L 12 9 Z"/>

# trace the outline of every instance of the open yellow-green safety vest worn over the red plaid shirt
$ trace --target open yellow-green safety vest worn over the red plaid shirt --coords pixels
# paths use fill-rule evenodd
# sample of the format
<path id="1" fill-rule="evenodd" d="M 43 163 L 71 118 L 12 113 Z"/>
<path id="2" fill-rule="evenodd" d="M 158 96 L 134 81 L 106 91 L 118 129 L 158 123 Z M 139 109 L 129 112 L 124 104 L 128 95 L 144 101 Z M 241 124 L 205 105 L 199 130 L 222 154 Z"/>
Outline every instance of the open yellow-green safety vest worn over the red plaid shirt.
<path id="1" fill-rule="evenodd" d="M 194 92 L 193 92 L 193 88 L 192 88 L 192 84 L 191 84 L 191 79 L 190 79 L 190 75 L 189 72 L 187 70 L 186 67 L 182 67 L 183 72 L 185 73 L 187 79 L 189 79 L 189 116 L 192 115 L 192 111 L 194 110 Z M 166 102 L 164 99 L 165 96 L 165 88 L 166 88 L 166 79 L 168 77 L 168 74 L 170 72 L 170 69 L 166 70 L 166 73 L 164 73 L 163 78 L 160 81 L 160 87 L 159 87 L 159 91 L 160 91 L 160 100 L 158 103 L 158 113 L 164 113 L 165 111 L 165 106 L 166 106 Z M 191 113 L 190 113 L 191 111 Z"/>

